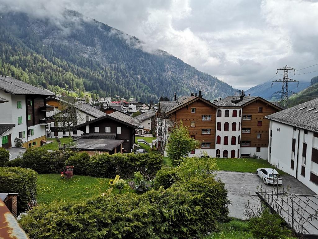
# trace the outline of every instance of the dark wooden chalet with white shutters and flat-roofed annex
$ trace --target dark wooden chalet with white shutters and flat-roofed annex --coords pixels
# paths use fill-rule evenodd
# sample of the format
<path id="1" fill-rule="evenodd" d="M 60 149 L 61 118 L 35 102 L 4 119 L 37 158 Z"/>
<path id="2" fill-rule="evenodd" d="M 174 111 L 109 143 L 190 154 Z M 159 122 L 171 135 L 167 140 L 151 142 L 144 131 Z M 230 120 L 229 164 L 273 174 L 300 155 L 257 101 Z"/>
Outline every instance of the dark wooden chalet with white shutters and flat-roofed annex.
<path id="1" fill-rule="evenodd" d="M 135 129 L 141 127 L 141 120 L 115 111 L 95 120 L 74 126 L 84 132 L 75 139 L 73 148 L 86 151 L 90 155 L 99 153 L 131 153 L 135 143 Z"/>

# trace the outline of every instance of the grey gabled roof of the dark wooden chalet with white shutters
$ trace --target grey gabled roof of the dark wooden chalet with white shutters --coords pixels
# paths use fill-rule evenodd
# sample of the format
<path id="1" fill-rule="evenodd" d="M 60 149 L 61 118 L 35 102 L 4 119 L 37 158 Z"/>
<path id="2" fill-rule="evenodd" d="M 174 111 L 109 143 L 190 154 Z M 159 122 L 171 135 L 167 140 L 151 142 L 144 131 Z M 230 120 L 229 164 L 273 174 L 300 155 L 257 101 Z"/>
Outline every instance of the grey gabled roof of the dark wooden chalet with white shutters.
<path id="1" fill-rule="evenodd" d="M 87 121 L 83 124 L 80 124 L 80 125 L 77 125 L 77 126 L 74 126 L 73 128 L 76 129 L 76 128 L 79 128 L 79 127 L 82 127 L 82 126 L 85 126 L 87 124 L 91 124 L 93 122 L 97 122 L 99 120 L 104 120 L 104 119 L 113 119 L 115 121 L 118 121 L 122 124 L 125 124 L 125 125 L 128 125 L 130 127 L 133 127 L 135 129 L 139 128 L 142 121 L 141 120 L 138 120 L 138 119 L 135 119 L 127 114 L 124 114 L 122 112 L 119 112 L 119 111 L 115 111 L 113 113 L 110 113 L 110 114 L 107 114 L 103 117 L 100 117 L 100 118 L 97 118 L 97 119 L 94 119 L 94 120 L 90 120 L 90 121 Z"/>

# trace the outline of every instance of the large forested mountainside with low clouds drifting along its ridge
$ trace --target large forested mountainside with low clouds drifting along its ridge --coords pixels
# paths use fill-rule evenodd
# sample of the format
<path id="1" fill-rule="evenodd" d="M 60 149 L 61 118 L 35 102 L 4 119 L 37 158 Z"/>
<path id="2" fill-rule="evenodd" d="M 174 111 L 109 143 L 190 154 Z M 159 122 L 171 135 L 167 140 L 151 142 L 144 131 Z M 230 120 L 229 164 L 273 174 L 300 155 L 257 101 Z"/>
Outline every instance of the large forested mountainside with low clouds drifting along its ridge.
<path id="1" fill-rule="evenodd" d="M 101 96 L 158 101 L 201 90 L 213 100 L 236 89 L 162 50 L 111 26 L 65 11 L 38 19 L 0 12 L 0 74 L 60 93 L 93 91 Z"/>

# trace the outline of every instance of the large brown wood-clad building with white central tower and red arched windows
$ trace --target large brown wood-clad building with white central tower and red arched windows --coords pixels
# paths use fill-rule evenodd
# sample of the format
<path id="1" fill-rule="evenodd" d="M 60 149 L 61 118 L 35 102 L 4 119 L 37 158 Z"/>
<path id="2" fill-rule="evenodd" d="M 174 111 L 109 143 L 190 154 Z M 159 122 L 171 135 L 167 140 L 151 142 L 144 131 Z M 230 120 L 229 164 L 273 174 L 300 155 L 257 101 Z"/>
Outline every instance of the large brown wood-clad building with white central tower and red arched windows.
<path id="1" fill-rule="evenodd" d="M 269 120 L 266 115 L 282 107 L 260 97 L 229 96 L 215 102 L 199 95 L 182 96 L 175 101 L 160 102 L 157 119 L 157 143 L 165 143 L 173 122 L 183 121 L 191 138 L 201 141 L 191 154 L 205 151 L 213 157 L 267 158 Z"/>

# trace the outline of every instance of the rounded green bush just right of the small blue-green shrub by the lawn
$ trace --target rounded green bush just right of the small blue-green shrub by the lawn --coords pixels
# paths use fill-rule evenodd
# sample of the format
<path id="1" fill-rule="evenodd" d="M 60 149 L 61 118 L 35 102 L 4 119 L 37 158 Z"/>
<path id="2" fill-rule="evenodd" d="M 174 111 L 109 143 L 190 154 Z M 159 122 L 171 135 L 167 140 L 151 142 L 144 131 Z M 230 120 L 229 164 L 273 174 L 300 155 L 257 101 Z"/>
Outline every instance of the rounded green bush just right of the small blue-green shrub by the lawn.
<path id="1" fill-rule="evenodd" d="M 163 187 L 164 189 L 169 188 L 171 185 L 176 183 L 177 177 L 177 169 L 176 168 L 162 168 L 158 170 L 155 177 L 155 189 L 159 187 Z"/>

